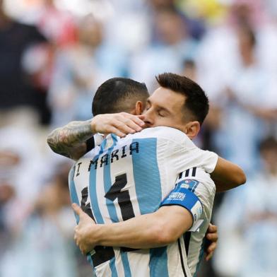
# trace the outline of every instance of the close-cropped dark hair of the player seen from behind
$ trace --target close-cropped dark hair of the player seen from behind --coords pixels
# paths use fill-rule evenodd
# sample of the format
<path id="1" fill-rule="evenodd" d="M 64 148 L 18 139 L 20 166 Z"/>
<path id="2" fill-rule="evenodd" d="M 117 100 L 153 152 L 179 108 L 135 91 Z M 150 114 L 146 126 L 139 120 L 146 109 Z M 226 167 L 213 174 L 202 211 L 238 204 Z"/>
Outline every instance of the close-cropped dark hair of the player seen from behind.
<path id="1" fill-rule="evenodd" d="M 111 78 L 96 90 L 93 98 L 93 115 L 129 112 L 136 101 L 146 101 L 149 97 L 145 83 L 129 78 Z"/>

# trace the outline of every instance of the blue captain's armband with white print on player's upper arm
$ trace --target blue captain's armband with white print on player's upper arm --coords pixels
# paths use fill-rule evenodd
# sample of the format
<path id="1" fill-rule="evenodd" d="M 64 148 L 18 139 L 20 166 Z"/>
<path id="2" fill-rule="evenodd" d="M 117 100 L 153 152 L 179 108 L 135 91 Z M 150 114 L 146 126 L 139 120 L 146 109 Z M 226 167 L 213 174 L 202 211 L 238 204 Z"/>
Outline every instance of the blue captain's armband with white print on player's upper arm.
<path id="1" fill-rule="evenodd" d="M 199 183 L 193 179 L 187 179 L 186 184 L 180 182 L 176 185 L 175 189 L 172 189 L 170 194 L 165 197 L 160 206 L 178 205 L 186 208 L 191 213 L 194 225 L 194 223 L 196 223 L 201 217 L 203 208 L 199 198 L 189 189 L 188 182 L 191 182 L 194 185 L 196 182 Z"/>

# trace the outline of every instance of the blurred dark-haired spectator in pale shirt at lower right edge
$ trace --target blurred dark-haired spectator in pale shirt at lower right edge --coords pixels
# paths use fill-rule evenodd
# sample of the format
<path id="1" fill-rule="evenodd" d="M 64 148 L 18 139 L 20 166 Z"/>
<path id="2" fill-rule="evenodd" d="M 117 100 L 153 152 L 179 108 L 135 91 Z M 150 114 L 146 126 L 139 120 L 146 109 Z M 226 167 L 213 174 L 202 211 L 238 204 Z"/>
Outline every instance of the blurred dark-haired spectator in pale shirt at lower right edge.
<path id="1" fill-rule="evenodd" d="M 226 198 L 217 216 L 218 224 L 227 223 L 220 224 L 216 255 L 221 276 L 273 277 L 277 273 L 276 139 L 262 141 L 260 153 L 262 167 L 249 177 L 247 186 Z"/>

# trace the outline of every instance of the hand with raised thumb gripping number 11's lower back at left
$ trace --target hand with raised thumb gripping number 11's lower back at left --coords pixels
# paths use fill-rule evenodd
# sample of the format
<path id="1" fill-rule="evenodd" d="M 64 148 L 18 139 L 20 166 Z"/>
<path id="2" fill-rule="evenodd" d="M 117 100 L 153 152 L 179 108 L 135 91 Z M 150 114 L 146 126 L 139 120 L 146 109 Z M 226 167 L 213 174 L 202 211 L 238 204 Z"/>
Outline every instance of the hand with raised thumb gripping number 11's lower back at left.
<path id="1" fill-rule="evenodd" d="M 75 203 L 72 208 L 79 216 L 79 223 L 74 228 L 74 240 L 81 252 L 86 255 L 94 249 L 96 245 L 95 231 L 98 230 L 98 225 L 95 224 L 92 218 L 82 211 L 82 209 Z"/>

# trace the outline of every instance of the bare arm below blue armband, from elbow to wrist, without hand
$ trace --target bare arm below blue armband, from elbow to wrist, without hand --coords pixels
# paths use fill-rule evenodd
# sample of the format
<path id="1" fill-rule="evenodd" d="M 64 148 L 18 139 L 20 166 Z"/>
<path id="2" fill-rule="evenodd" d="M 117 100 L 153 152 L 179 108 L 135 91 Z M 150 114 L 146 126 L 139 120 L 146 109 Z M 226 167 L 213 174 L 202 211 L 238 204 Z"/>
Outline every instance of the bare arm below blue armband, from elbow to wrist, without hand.
<path id="1" fill-rule="evenodd" d="M 96 236 L 98 244 L 102 246 L 148 249 L 175 242 L 190 228 L 191 223 L 192 218 L 187 210 L 179 206 L 167 206 L 155 213 L 121 223 L 98 225 Z"/>

